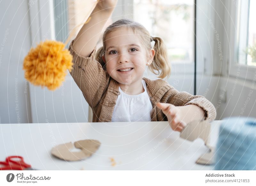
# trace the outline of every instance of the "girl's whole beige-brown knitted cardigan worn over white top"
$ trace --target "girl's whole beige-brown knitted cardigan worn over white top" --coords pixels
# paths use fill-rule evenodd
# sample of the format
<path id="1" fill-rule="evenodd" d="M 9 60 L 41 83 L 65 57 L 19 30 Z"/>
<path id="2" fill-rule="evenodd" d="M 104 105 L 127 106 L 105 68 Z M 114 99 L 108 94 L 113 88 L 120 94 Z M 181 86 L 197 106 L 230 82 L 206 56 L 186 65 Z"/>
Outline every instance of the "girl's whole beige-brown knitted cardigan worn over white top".
<path id="1" fill-rule="evenodd" d="M 111 122 L 117 96 L 120 94 L 118 82 L 111 78 L 100 63 L 94 59 L 95 49 L 86 58 L 80 56 L 73 49 L 72 44 L 73 41 L 69 50 L 73 55 L 74 65 L 70 74 L 92 108 L 92 122 Z M 143 79 L 146 81 L 148 96 L 153 107 L 151 121 L 167 121 L 167 117 L 161 109 L 156 107 L 157 102 L 170 103 L 175 106 L 198 105 L 206 111 L 206 120 L 210 122 L 216 118 L 214 106 L 203 96 L 193 96 L 187 92 L 179 92 L 161 79 Z"/>

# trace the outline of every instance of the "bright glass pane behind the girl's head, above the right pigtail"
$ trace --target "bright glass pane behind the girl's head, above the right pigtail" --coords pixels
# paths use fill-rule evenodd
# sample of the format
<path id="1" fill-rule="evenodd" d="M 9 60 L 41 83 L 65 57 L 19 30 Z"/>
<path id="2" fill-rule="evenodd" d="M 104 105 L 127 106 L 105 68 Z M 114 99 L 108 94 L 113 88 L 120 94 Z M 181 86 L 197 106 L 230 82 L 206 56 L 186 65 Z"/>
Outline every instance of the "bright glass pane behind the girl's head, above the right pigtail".
<path id="1" fill-rule="evenodd" d="M 172 63 L 194 62 L 194 0 L 134 0 L 134 20 L 161 37 Z"/>

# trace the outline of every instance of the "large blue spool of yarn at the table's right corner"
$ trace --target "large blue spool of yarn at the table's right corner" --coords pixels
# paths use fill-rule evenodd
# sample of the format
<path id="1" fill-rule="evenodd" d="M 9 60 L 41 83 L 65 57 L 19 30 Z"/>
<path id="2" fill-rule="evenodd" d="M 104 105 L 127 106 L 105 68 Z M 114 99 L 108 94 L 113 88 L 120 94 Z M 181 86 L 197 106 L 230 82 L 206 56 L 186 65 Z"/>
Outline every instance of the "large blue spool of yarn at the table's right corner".
<path id="1" fill-rule="evenodd" d="M 216 146 L 215 170 L 256 170 L 256 119 L 224 118 Z"/>

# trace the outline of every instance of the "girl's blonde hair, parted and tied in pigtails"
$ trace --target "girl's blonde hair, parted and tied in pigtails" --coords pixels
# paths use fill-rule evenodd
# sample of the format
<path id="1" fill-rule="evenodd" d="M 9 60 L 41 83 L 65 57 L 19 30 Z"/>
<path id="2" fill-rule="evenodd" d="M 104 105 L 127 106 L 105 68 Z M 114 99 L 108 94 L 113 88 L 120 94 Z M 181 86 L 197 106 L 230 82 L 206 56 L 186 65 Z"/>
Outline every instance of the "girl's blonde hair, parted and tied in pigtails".
<path id="1" fill-rule="evenodd" d="M 106 71 L 106 64 L 102 59 L 102 56 L 105 55 L 106 52 L 106 37 L 109 33 L 121 27 L 132 28 L 134 33 L 135 31 L 139 31 L 141 33 L 140 37 L 142 45 L 146 46 L 149 50 L 151 49 L 151 42 L 155 42 L 155 56 L 148 68 L 151 72 L 158 75 L 158 78 L 168 78 L 171 75 L 171 65 L 168 62 L 166 46 L 164 45 L 163 40 L 160 37 L 151 37 L 148 30 L 143 25 L 130 19 L 119 19 L 106 28 L 102 37 L 103 46 L 100 47 L 95 55 L 96 60 L 99 61 L 103 69 Z"/>

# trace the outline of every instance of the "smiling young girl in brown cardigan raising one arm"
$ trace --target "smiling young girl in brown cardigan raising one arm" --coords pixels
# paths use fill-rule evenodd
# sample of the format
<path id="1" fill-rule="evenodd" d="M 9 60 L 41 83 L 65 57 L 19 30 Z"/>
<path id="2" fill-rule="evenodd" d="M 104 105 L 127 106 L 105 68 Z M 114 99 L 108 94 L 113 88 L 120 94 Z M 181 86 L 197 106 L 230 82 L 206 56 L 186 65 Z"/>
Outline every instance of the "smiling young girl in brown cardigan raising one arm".
<path id="1" fill-rule="evenodd" d="M 116 3 L 98 2 L 91 20 L 69 46 L 74 63 L 71 75 L 93 110 L 93 122 L 168 120 L 173 130 L 181 131 L 192 120 L 214 120 L 216 110 L 206 98 L 179 92 L 162 80 L 171 73 L 164 43 L 141 24 L 129 19 L 114 22 L 95 54 Z M 146 66 L 162 79 L 143 78 Z"/>

